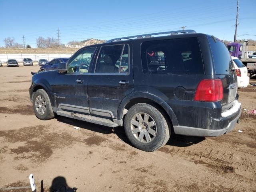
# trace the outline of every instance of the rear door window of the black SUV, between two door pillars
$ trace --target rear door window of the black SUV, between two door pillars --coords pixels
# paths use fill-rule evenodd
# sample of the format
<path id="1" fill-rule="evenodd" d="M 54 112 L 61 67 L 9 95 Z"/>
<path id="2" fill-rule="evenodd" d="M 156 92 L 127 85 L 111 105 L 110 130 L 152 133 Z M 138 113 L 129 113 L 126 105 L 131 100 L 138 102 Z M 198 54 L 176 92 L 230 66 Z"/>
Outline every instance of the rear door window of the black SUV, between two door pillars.
<path id="1" fill-rule="evenodd" d="M 102 46 L 98 55 L 95 72 L 129 72 L 129 46 L 127 44 Z"/>

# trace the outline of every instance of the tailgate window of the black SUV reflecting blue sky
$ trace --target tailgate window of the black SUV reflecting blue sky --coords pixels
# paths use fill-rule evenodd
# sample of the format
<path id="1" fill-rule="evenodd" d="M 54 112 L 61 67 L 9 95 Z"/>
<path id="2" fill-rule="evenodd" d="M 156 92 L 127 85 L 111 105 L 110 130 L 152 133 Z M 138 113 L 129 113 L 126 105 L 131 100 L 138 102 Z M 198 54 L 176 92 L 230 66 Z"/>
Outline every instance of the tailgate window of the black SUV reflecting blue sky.
<path id="1" fill-rule="evenodd" d="M 231 60 L 230 53 L 226 45 L 217 39 L 216 42 L 214 42 L 214 39 L 211 37 L 208 37 L 208 41 L 212 50 L 215 73 L 229 74 L 230 72 L 227 70 L 234 68 L 234 64 Z"/>

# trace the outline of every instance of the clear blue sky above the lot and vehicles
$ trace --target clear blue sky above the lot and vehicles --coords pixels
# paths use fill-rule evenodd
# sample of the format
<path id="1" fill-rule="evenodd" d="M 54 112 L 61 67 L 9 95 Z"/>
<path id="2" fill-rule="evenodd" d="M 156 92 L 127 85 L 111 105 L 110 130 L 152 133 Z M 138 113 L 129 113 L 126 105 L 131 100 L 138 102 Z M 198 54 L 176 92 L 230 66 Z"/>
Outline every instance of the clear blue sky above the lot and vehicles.
<path id="1" fill-rule="evenodd" d="M 236 0 L 0 0 L 4 38 L 36 47 L 36 38 L 109 40 L 153 32 L 193 29 L 234 40 Z M 256 0 L 240 0 L 237 39 L 256 40 Z M 251 34 L 252 36 L 244 35 Z M 253 36 L 254 35 L 254 36 Z"/>

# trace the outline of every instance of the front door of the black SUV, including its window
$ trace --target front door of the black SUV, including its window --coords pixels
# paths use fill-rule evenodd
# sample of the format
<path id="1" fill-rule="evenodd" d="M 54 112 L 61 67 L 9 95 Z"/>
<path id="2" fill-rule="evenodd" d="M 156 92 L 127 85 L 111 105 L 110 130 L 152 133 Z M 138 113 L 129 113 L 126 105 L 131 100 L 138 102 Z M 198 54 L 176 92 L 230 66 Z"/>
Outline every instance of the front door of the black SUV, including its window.
<path id="1" fill-rule="evenodd" d="M 67 73 L 55 79 L 56 105 L 60 110 L 88 114 L 87 82 L 96 47 L 76 52 L 67 62 Z"/>

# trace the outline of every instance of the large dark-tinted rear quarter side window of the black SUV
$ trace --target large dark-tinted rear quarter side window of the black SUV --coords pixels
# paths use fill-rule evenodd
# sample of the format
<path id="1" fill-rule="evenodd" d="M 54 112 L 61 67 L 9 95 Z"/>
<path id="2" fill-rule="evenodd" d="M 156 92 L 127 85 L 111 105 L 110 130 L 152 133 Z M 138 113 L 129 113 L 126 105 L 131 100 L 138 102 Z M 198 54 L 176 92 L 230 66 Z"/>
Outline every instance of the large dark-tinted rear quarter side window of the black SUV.
<path id="1" fill-rule="evenodd" d="M 149 41 L 141 49 L 144 74 L 204 74 L 197 38 Z"/>

